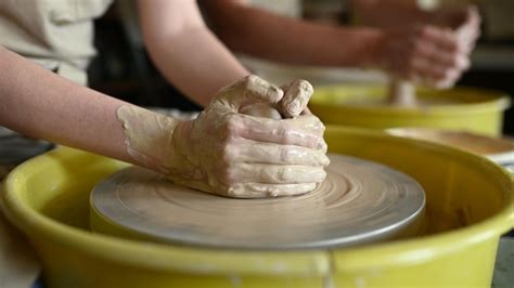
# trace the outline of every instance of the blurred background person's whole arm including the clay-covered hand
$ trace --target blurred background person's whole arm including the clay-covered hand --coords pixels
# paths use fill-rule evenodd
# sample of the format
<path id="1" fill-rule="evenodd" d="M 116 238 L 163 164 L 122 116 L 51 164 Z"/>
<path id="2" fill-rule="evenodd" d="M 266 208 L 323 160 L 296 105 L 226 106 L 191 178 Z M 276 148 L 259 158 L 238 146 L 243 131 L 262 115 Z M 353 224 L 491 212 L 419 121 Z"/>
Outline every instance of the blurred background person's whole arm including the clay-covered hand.
<path id="1" fill-rule="evenodd" d="M 374 5 L 374 12 L 390 13 L 388 17 L 400 14 L 390 9 L 395 5 L 407 14 L 415 10 L 424 17 L 412 0 L 360 2 Z M 234 51 L 291 64 L 382 68 L 438 88 L 452 86 L 468 67 L 468 53 L 479 23 L 473 9 L 463 10 L 457 18 L 452 13 L 437 14 L 437 17 L 426 14 L 434 16 L 429 21 L 433 23 L 420 26 L 406 24 L 408 18 L 398 18 L 401 29 L 396 30 L 308 23 L 248 6 L 245 1 L 217 0 L 204 4 L 216 31 Z M 460 37 L 460 32 L 438 27 L 446 23 L 459 24 L 458 30 L 462 28 L 470 36 Z"/>

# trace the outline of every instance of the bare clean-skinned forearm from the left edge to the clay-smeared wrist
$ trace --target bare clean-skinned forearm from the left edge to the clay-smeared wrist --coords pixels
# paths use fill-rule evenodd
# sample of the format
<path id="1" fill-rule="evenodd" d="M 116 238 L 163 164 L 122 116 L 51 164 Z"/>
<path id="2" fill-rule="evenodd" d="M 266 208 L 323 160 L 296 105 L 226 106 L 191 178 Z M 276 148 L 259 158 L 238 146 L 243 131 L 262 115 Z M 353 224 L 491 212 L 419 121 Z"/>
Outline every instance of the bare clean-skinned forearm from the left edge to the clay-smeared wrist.
<path id="1" fill-rule="evenodd" d="M 0 69 L 1 126 L 133 162 L 116 119 L 124 102 L 60 78 L 3 48 Z"/>

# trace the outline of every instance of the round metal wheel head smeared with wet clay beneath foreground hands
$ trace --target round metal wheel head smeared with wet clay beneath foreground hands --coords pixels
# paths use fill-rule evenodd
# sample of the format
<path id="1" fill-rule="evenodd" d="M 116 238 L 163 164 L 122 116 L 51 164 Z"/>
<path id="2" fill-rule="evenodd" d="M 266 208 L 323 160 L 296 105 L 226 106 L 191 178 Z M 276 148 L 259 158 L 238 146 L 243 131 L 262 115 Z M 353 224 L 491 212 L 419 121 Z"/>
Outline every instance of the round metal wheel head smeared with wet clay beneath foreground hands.
<path id="1" fill-rule="evenodd" d="M 142 168 L 102 181 L 91 194 L 95 232 L 217 248 L 348 246 L 420 233 L 425 204 L 410 176 L 330 155 L 326 180 L 293 197 L 231 199 L 177 186 Z"/>

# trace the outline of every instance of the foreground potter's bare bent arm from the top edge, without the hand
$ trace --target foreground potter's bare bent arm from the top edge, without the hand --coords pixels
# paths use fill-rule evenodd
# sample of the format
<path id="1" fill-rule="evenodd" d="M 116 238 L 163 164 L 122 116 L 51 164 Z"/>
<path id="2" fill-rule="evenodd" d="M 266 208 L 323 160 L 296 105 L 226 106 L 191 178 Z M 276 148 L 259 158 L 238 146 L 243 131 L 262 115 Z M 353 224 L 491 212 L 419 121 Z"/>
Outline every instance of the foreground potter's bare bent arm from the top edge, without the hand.
<path id="1" fill-rule="evenodd" d="M 216 92 L 248 75 L 205 26 L 195 1 L 138 1 L 153 62 L 180 91 L 206 106 Z"/>

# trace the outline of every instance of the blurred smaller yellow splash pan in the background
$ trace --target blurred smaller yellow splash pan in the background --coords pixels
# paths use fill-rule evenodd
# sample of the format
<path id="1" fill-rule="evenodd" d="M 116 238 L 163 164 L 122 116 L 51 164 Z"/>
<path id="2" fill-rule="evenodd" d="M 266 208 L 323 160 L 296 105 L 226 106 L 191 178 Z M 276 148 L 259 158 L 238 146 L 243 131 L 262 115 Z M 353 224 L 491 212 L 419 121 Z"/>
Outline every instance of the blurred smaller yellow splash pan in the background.
<path id="1" fill-rule="evenodd" d="M 477 88 L 417 89 L 422 105 L 414 108 L 380 105 L 386 94 L 385 86 L 316 87 L 309 107 L 325 123 L 373 129 L 428 127 L 499 135 L 503 112 L 510 106 L 506 94 Z"/>

